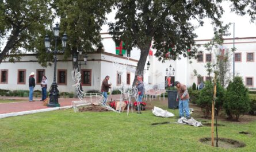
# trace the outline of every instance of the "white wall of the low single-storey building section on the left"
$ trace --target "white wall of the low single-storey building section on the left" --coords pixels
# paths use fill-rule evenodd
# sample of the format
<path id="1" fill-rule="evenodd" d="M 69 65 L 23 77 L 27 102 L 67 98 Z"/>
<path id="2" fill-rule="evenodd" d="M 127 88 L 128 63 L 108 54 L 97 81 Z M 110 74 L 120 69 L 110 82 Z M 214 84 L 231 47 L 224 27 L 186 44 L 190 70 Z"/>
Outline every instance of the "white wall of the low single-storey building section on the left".
<path id="1" fill-rule="evenodd" d="M 106 75 L 110 76 L 110 82 L 113 86 L 116 85 L 117 80 L 117 69 L 114 67 L 112 61 L 117 60 L 120 64 L 125 62 L 124 57 L 119 57 L 114 54 L 109 53 L 90 53 L 88 54 L 87 64 L 84 65 L 83 61 L 81 61 L 81 69 L 91 69 L 91 85 L 90 86 L 82 86 L 84 91 L 89 91 L 91 89 L 101 89 L 101 82 L 105 78 Z M 58 83 L 58 69 L 66 70 L 67 81 L 66 84 L 58 84 L 58 89 L 60 92 L 74 92 L 74 88 L 72 85 L 74 81 L 72 80 L 71 72 L 72 72 L 72 60 L 68 59 L 68 61 L 62 61 L 62 55 L 58 55 L 58 62 L 56 67 L 56 81 Z M 81 59 L 83 60 L 83 59 Z M 79 63 L 79 61 L 78 61 Z M 135 67 L 137 65 L 137 60 L 129 60 L 128 65 Z M 35 55 L 29 54 L 28 56 L 22 56 L 20 61 L 16 61 L 15 63 L 9 63 L 7 59 L 0 64 L 0 70 L 8 69 L 8 82 L 1 83 L 1 89 L 9 89 L 9 90 L 28 90 L 28 79 L 29 74 L 31 72 L 35 72 L 35 79 L 37 80 L 36 69 L 45 69 L 45 76 L 48 79 L 48 88 L 52 84 L 54 77 L 54 64 L 51 67 L 41 67 L 38 63 Z M 18 84 L 18 69 L 25 69 L 25 84 Z M 123 75 L 123 81 L 126 83 L 126 71 Z M 134 79 L 135 73 L 131 72 L 131 83 Z M 1 77 L 1 73 L 0 73 Z M 41 90 L 40 84 L 37 84 L 35 90 Z"/>

